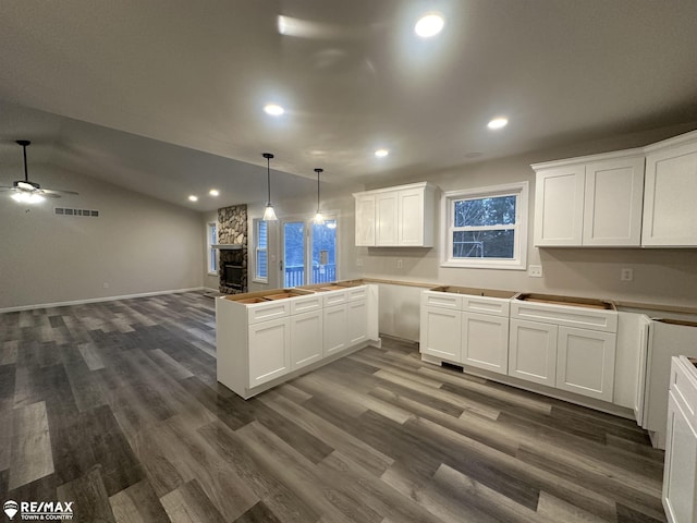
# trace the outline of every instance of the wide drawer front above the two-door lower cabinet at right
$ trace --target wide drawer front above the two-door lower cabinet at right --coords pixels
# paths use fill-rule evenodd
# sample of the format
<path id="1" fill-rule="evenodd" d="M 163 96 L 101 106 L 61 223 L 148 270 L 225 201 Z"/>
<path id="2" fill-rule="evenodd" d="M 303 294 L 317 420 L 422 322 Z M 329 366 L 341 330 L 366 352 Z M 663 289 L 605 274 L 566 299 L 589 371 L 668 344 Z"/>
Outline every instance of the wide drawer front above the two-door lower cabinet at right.
<path id="1" fill-rule="evenodd" d="M 519 300 L 512 300 L 511 317 L 603 332 L 617 331 L 617 313 L 615 311 L 546 303 L 525 303 Z"/>

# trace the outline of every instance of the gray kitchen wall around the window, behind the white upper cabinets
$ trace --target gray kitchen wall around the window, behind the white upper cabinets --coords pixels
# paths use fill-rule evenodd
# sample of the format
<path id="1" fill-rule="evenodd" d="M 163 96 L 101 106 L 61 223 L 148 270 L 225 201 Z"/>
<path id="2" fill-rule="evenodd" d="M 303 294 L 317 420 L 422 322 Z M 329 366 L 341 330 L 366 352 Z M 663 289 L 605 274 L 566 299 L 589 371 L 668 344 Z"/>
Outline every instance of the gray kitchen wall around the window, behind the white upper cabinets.
<path id="1" fill-rule="evenodd" d="M 530 182 L 528 217 L 528 265 L 541 265 L 543 278 L 530 278 L 519 270 L 458 269 L 440 267 L 440 246 L 433 248 L 353 247 L 363 260 L 366 277 L 438 282 L 513 291 L 536 291 L 576 296 L 697 307 L 697 250 L 641 248 L 535 248 L 535 173 L 530 163 L 573 156 L 641 146 L 680 134 L 694 126 L 658 130 L 632 136 L 573 147 L 558 147 L 536 154 L 445 169 L 435 173 L 412 173 L 375 186 L 430 181 L 442 191 Z M 374 188 L 370 186 L 368 188 Z M 440 217 L 436 218 L 440 220 Z M 396 268 L 396 260 L 403 267 Z M 634 269 L 634 281 L 620 281 L 620 269 Z"/>

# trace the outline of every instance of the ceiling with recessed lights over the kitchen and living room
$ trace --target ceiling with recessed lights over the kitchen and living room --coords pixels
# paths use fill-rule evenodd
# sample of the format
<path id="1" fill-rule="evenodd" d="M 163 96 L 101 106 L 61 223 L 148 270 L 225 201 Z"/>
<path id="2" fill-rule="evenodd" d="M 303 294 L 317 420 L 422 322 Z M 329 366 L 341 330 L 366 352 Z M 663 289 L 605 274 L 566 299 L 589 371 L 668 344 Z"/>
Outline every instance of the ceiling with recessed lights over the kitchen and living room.
<path id="1" fill-rule="evenodd" d="M 375 183 L 697 121 L 696 28 L 695 0 L 3 0 L 0 163 L 27 138 L 30 161 L 208 210 L 266 199 L 267 150 L 293 196 L 316 167 Z"/>

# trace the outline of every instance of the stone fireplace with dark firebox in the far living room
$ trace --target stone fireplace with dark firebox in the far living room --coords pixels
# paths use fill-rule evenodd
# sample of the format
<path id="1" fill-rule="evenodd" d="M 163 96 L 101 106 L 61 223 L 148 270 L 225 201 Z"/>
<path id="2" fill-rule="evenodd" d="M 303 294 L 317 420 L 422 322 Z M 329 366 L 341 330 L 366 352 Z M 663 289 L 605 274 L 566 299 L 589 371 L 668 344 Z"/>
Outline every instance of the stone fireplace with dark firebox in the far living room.
<path id="1" fill-rule="evenodd" d="M 247 292 L 247 206 L 218 209 L 218 243 L 236 248 L 218 251 L 219 290 L 223 294 Z"/>

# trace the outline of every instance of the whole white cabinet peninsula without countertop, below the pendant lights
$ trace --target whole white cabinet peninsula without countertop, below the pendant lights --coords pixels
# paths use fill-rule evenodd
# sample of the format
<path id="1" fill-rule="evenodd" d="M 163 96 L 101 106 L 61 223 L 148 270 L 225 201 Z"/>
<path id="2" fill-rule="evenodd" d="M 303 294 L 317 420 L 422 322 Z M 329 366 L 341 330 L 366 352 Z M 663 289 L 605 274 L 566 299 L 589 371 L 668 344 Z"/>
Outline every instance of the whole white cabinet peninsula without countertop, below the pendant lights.
<path id="1" fill-rule="evenodd" d="M 280 294 L 288 296 L 271 297 Z M 216 300 L 218 381 L 250 398 L 379 342 L 377 321 L 378 292 L 372 284 L 221 296 Z"/>

